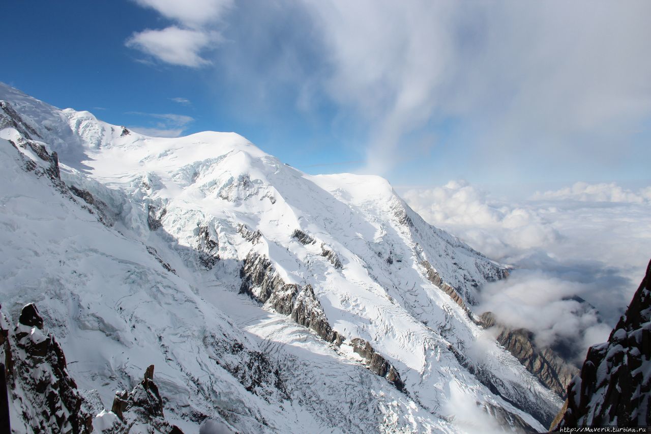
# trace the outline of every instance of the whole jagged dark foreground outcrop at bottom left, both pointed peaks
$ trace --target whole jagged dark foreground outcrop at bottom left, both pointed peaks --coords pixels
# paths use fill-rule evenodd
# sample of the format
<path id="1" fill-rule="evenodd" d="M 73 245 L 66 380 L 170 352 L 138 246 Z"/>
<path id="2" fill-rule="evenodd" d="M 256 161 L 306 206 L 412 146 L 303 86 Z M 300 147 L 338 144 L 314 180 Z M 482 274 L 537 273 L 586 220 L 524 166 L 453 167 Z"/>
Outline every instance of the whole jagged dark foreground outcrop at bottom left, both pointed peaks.
<path id="1" fill-rule="evenodd" d="M 95 416 L 77 389 L 66 356 L 43 325 L 36 305 L 26 304 L 18 324 L 0 312 L 0 358 L 8 392 L 8 418 L 2 432 L 182 434 L 165 420 L 163 398 L 154 383 L 154 365 L 131 392 L 118 391 L 111 411 Z M 2 389 L 5 392 L 5 389 Z M 3 421 L 5 422 L 5 421 Z M 141 432 L 141 431 L 137 431 Z"/>

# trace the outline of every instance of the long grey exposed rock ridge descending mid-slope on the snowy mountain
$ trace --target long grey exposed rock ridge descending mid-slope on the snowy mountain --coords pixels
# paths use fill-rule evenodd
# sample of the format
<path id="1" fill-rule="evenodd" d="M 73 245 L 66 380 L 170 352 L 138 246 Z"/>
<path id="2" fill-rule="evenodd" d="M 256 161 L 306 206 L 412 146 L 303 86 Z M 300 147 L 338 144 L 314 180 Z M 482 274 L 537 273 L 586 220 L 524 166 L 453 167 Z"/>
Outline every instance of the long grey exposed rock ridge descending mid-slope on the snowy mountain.
<path id="1" fill-rule="evenodd" d="M 289 315 L 296 323 L 314 330 L 320 338 L 337 347 L 346 340 L 345 336 L 333 330 L 328 323 L 326 313 L 314 295 L 312 286 L 285 283 L 264 255 L 250 252 L 244 259 L 240 277 L 240 293 L 268 304 L 278 313 Z M 404 383 L 398 370 L 377 353 L 370 343 L 355 338 L 351 345 L 355 353 L 365 358 L 370 371 L 385 377 L 398 390 L 404 391 Z"/>

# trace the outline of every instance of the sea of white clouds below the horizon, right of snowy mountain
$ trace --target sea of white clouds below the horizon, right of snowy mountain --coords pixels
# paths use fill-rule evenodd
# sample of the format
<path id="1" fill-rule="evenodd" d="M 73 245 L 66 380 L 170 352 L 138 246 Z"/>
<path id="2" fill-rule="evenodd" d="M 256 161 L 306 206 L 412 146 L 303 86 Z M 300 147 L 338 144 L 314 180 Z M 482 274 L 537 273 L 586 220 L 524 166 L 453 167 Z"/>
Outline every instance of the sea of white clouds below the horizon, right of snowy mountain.
<path id="1" fill-rule="evenodd" d="M 648 191 L 579 182 L 505 203 L 467 182 L 449 182 L 402 196 L 430 224 L 516 267 L 507 280 L 482 288 L 478 311 L 533 330 L 542 345 L 570 342 L 585 350 L 607 338 L 651 257 Z"/>

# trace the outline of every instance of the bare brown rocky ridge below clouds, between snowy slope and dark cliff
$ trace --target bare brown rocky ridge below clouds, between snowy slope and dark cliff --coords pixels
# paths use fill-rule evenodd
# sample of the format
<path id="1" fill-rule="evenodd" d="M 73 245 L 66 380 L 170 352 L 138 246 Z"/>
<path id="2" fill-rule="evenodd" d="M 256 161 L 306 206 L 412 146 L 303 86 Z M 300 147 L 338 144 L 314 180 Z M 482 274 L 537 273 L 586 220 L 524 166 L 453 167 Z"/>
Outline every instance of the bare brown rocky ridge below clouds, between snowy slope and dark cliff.
<path id="1" fill-rule="evenodd" d="M 538 348 L 534 336 L 524 328 L 512 329 L 496 321 L 492 312 L 480 315 L 485 328 L 497 328 L 497 341 L 513 354 L 519 362 L 561 399 L 566 398 L 566 389 L 579 369 L 565 362 L 549 347 Z"/>

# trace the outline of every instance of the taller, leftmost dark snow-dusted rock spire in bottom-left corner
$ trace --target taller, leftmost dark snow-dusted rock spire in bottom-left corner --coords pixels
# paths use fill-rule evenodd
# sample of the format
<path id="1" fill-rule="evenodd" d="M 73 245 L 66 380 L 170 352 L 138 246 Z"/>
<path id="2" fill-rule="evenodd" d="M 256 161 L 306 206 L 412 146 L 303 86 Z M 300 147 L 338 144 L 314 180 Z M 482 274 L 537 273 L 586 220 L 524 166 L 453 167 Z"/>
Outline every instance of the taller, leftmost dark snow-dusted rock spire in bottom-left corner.
<path id="1" fill-rule="evenodd" d="M 63 351 L 36 306 L 27 304 L 18 321 L 12 328 L 7 317 L 0 317 L 9 399 L 20 409 L 22 422 L 34 432 L 89 433 L 92 415 L 82 409 Z"/>

